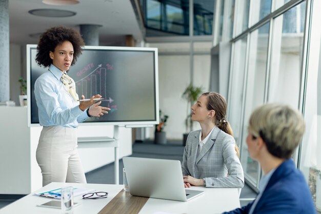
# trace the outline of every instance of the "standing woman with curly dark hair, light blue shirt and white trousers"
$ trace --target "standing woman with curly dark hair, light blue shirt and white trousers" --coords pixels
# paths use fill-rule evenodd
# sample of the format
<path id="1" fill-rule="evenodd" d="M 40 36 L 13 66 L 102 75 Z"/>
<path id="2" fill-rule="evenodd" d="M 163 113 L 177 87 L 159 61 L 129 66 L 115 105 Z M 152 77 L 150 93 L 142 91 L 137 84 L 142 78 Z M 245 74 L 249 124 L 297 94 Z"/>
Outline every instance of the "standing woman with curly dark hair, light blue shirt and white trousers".
<path id="1" fill-rule="evenodd" d="M 77 151 L 78 123 L 110 110 L 99 106 L 101 102 L 95 103 L 94 98 L 102 97 L 99 94 L 79 102 L 75 82 L 67 75 L 84 45 L 76 30 L 59 26 L 44 32 L 37 46 L 37 64 L 48 67 L 34 85 L 39 123 L 43 126 L 36 151 L 43 186 L 51 182 L 86 183 Z"/>

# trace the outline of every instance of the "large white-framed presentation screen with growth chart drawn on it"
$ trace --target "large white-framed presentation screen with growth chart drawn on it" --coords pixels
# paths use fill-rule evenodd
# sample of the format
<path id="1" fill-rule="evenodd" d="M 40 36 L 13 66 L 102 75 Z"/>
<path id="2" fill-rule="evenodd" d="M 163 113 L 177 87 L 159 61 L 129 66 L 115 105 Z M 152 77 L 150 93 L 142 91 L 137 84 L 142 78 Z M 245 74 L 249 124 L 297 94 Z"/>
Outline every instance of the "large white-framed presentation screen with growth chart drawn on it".
<path id="1" fill-rule="evenodd" d="M 35 62 L 36 45 L 27 45 L 28 125 L 38 125 L 34 95 L 36 79 L 48 71 Z M 101 94 L 111 110 L 86 123 L 110 125 L 158 124 L 158 55 L 156 48 L 85 46 L 68 75 L 81 98 Z"/>

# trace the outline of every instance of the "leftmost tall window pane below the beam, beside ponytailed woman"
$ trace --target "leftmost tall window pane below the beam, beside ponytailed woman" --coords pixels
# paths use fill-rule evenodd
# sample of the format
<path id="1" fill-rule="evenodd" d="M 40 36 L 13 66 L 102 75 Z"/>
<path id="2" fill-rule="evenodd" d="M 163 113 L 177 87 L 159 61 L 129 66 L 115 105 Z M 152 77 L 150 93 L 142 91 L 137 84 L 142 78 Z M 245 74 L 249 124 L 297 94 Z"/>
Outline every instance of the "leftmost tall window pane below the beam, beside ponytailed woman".
<path id="1" fill-rule="evenodd" d="M 240 123 L 242 116 L 242 100 L 245 75 L 247 36 L 234 43 L 234 55 L 231 74 L 231 94 L 229 99 L 228 121 L 231 123 L 234 138 L 240 145 Z M 237 106 L 237 107 L 236 107 Z"/>

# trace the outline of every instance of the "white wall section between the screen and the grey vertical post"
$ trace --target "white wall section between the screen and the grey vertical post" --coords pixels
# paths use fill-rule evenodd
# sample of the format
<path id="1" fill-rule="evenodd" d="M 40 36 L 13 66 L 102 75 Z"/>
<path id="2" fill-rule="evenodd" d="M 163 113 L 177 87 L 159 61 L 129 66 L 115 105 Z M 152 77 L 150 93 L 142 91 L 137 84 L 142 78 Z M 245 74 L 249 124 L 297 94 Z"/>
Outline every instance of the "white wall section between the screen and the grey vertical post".
<path id="1" fill-rule="evenodd" d="M 160 55 L 159 109 L 169 115 L 165 127 L 168 139 L 182 139 L 185 133 L 187 102 L 182 93 L 190 82 L 188 55 Z"/>

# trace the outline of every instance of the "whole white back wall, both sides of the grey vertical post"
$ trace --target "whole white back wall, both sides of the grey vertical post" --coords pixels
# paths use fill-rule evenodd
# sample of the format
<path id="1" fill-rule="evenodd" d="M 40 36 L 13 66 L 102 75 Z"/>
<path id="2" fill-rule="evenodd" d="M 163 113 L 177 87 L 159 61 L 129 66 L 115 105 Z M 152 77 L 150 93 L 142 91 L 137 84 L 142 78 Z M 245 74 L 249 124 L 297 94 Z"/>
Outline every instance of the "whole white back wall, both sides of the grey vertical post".
<path id="1" fill-rule="evenodd" d="M 159 109 L 169 115 L 165 126 L 167 139 L 183 139 L 186 133 L 185 119 L 190 104 L 183 98 L 185 88 L 191 82 L 189 43 L 148 43 L 158 48 Z M 194 43 L 193 84 L 205 91 L 210 84 L 211 43 Z M 193 129 L 199 129 L 194 123 Z M 146 137 L 154 138 L 154 128 L 146 129 Z"/>

